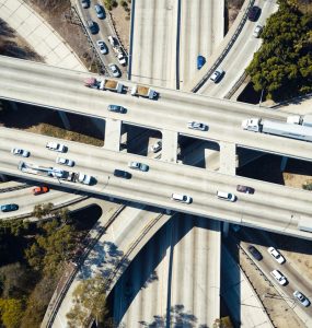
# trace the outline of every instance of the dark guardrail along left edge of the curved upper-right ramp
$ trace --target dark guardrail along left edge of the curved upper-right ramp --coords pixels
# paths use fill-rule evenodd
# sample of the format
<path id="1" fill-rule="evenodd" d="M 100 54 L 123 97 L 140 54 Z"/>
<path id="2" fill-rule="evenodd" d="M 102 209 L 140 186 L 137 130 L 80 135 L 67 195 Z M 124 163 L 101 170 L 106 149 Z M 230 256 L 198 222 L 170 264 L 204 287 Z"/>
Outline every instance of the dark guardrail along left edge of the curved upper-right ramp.
<path id="1" fill-rule="evenodd" d="M 203 77 L 203 79 L 190 90 L 190 92 L 197 92 L 203 85 L 204 83 L 209 79 L 209 77 L 215 72 L 215 70 L 219 67 L 219 65 L 223 61 L 223 59 L 226 58 L 226 56 L 228 55 L 228 52 L 230 51 L 230 49 L 232 48 L 232 46 L 234 45 L 234 42 L 236 40 L 236 38 L 239 37 L 241 31 L 243 30 L 243 26 L 245 25 L 245 22 L 247 20 L 247 14 L 249 14 L 249 10 L 252 5 L 254 5 L 255 0 L 250 0 L 250 3 L 245 10 L 245 13 L 236 28 L 236 31 L 234 32 L 233 36 L 231 37 L 230 42 L 228 43 L 227 47 L 223 49 L 223 51 L 221 52 L 221 55 L 218 57 L 218 59 L 215 61 L 215 63 L 212 65 L 212 67 L 210 68 L 210 70 Z"/>

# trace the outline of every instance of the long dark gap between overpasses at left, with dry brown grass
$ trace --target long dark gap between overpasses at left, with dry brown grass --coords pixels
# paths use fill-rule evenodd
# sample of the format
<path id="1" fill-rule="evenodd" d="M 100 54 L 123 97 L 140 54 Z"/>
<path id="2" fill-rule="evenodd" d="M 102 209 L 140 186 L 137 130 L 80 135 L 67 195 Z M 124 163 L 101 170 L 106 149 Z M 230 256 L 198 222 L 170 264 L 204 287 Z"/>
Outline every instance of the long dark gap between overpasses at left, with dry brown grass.
<path id="1" fill-rule="evenodd" d="M 103 147 L 105 120 L 60 109 L 1 101 L 0 126 Z"/>

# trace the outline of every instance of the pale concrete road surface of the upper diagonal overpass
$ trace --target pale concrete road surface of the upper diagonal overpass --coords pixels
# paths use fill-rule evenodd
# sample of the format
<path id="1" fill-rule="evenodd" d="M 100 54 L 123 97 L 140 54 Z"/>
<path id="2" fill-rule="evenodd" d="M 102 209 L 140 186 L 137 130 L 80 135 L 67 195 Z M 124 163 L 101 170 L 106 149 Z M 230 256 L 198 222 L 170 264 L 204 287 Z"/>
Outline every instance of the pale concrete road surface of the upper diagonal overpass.
<path id="1" fill-rule="evenodd" d="M 311 142 L 243 131 L 241 128 L 242 120 L 250 118 L 251 113 L 254 117 L 280 120 L 286 120 L 287 113 L 160 87 L 159 101 L 92 90 L 83 85 L 84 78 L 90 75 L 88 73 L 5 57 L 0 57 L 0 69 L 2 98 L 63 108 L 97 118 L 123 119 L 134 125 L 169 130 L 203 140 L 232 142 L 244 148 L 308 161 L 312 159 Z M 108 104 L 123 105 L 128 112 L 126 115 L 107 112 Z M 189 120 L 208 124 L 209 130 L 189 130 L 186 127 Z"/>

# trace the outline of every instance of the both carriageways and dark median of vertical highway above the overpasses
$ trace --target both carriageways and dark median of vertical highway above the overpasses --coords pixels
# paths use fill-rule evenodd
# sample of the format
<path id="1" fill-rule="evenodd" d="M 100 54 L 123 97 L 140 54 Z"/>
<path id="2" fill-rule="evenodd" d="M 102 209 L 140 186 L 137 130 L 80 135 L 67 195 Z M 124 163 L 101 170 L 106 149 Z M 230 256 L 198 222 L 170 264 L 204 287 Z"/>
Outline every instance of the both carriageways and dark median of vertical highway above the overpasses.
<path id="1" fill-rule="evenodd" d="M 178 89 L 192 79 L 197 56 L 208 58 L 223 38 L 223 8 L 220 0 L 137 0 L 131 81 Z"/>

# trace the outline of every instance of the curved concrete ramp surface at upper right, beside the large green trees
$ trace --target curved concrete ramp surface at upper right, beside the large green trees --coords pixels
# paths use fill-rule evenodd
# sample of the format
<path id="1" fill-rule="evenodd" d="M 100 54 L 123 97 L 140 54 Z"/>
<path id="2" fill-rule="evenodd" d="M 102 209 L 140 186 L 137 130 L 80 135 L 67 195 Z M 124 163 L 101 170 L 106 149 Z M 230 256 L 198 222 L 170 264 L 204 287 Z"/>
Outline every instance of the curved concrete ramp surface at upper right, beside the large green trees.
<path id="1" fill-rule="evenodd" d="M 198 93 L 222 98 L 243 75 L 245 68 L 253 59 L 254 52 L 262 45 L 262 39 L 253 36 L 255 26 L 258 24 L 264 26 L 266 20 L 278 9 L 275 0 L 258 0 L 255 1 L 255 4 L 262 9 L 261 16 L 257 22 L 246 21 L 234 45 L 222 60 L 220 67 L 226 71 L 222 80 L 219 83 L 208 80 Z"/>

